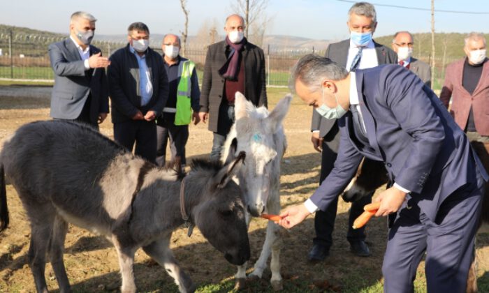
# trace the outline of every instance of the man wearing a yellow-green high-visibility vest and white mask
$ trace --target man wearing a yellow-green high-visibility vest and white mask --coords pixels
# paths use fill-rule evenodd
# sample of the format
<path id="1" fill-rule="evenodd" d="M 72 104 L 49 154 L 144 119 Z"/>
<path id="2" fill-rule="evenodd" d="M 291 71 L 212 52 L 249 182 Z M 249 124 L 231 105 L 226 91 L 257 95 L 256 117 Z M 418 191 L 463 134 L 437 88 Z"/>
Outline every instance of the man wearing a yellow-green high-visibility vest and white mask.
<path id="1" fill-rule="evenodd" d="M 168 101 L 161 116 L 156 119 L 156 163 L 165 165 L 166 144 L 170 139 L 171 160 L 180 158 L 182 167 L 185 158 L 185 144 L 189 139 L 189 123 L 200 121 L 200 89 L 196 65 L 180 56 L 180 38 L 168 33 L 163 38 L 163 65 L 169 82 Z"/>

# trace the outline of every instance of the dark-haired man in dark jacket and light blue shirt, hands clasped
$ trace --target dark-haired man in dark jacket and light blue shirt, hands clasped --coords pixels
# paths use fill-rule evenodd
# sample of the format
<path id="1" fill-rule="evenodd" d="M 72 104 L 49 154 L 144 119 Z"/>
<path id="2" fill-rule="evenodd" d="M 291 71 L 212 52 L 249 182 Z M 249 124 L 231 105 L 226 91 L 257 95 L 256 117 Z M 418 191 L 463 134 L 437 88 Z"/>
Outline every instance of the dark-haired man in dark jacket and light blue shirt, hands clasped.
<path id="1" fill-rule="evenodd" d="M 156 123 L 166 100 L 168 78 L 161 55 L 149 45 L 149 29 L 134 22 L 129 43 L 114 52 L 108 68 L 114 139 L 134 153 L 156 163 Z"/>

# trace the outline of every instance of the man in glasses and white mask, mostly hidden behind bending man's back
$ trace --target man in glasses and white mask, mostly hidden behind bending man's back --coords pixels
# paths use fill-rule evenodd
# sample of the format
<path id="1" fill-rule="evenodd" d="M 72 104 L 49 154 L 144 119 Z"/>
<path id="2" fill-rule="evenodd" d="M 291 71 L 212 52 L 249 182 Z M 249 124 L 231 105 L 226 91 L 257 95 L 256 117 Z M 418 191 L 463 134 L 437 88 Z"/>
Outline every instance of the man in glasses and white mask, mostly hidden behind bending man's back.
<path id="1" fill-rule="evenodd" d="M 392 40 L 392 49 L 397 53 L 397 63 L 411 70 L 418 75 L 427 87 L 431 87 L 431 70 L 430 66 L 414 57 L 413 54 L 414 40 L 409 31 L 398 31 Z"/>

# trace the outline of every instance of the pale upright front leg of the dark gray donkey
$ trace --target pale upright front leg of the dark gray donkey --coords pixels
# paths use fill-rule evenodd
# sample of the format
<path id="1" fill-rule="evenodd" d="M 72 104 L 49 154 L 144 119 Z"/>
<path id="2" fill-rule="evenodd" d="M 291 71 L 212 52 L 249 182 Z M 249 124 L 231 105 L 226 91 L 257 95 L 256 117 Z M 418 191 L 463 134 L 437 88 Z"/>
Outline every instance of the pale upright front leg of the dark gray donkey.
<path id="1" fill-rule="evenodd" d="M 117 250 L 117 256 L 119 257 L 119 268 L 122 277 L 121 293 L 136 292 L 133 271 L 134 253 L 136 250 L 134 248 L 122 246 L 115 235 L 112 235 L 112 243 L 114 243 L 115 249 Z"/>

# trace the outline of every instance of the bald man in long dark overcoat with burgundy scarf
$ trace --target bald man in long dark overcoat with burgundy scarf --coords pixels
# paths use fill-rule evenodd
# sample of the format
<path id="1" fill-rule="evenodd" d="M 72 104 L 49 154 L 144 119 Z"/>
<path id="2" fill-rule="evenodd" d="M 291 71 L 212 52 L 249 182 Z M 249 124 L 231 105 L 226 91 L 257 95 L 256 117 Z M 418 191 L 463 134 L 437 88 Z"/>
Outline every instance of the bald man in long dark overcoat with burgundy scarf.
<path id="1" fill-rule="evenodd" d="M 219 159 L 221 147 L 234 123 L 234 96 L 244 93 L 256 106 L 267 107 L 263 50 L 243 36 L 240 15 L 226 18 L 226 39 L 210 45 L 205 57 L 199 117 L 209 119 L 214 133 L 210 158 Z"/>

